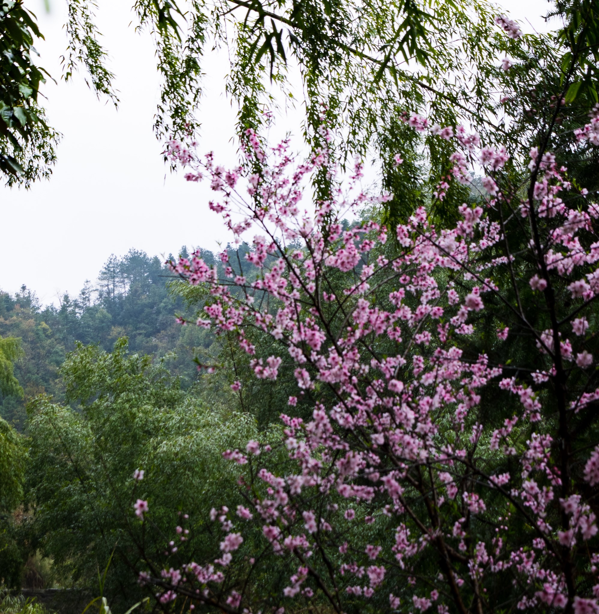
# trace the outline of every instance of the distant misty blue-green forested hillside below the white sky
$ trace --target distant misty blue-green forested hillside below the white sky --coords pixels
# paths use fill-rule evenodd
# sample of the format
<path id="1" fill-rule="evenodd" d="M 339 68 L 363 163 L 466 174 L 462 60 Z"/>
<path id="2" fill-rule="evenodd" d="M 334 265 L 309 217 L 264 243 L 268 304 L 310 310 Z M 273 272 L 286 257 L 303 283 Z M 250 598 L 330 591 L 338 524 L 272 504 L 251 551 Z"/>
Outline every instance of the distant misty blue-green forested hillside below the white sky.
<path id="1" fill-rule="evenodd" d="M 211 252 L 203 252 L 213 262 Z M 181 254 L 187 250 L 182 247 Z M 45 393 L 61 402 L 64 387 L 60 367 L 77 341 L 111 351 L 119 337 L 127 336 L 132 352 L 165 356 L 173 374 L 188 387 L 196 376 L 193 362 L 198 346 L 212 338 L 195 327 L 181 327 L 174 314 L 184 302 L 170 289 L 173 274 L 160 258 L 131 249 L 112 255 L 95 282 L 87 282 L 77 297 L 60 297 L 60 306 L 42 305 L 35 289 L 22 287 L 10 295 L 0 290 L 0 337 L 21 340 L 22 356 L 14 374 L 24 396 L 0 395 L 0 416 L 18 429 L 25 426 L 25 405 Z"/>

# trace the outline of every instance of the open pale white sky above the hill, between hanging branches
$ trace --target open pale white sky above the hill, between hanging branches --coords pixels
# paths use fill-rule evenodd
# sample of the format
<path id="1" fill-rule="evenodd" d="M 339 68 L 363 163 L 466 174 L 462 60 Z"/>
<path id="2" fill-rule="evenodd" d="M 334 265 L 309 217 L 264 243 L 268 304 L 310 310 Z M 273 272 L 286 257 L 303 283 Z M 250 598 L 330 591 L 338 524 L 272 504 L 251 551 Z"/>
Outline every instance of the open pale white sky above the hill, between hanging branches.
<path id="1" fill-rule="evenodd" d="M 188 184 L 162 161 L 152 132 L 159 91 L 154 48 L 130 24 L 133 2 L 98 1 L 97 23 L 116 75 L 118 111 L 96 99 L 82 74 L 68 84 L 60 80 L 66 2 L 50 2 L 50 14 L 42 0 L 25 4 L 36 13 L 46 39 L 36 44 L 39 63 L 58 82 L 43 90 L 50 125 L 63 134 L 57 165 L 50 181 L 31 190 L 0 187 L 0 289 L 13 293 L 26 284 L 42 303 L 57 302 L 65 291 L 79 293 L 113 253 L 134 247 L 149 255 L 176 254 L 183 244 L 214 250 L 217 241 L 229 238 L 220 217 L 208 209 L 213 194 L 208 186 Z M 523 21 L 525 32 L 533 26 L 546 30 L 539 18 L 549 6 L 546 0 L 501 4 Z M 216 54 L 203 60 L 200 151 L 214 150 L 217 160 L 232 165 L 235 114 L 224 96 L 225 66 L 225 58 Z M 289 123 L 297 133 L 297 122 L 290 118 Z"/>

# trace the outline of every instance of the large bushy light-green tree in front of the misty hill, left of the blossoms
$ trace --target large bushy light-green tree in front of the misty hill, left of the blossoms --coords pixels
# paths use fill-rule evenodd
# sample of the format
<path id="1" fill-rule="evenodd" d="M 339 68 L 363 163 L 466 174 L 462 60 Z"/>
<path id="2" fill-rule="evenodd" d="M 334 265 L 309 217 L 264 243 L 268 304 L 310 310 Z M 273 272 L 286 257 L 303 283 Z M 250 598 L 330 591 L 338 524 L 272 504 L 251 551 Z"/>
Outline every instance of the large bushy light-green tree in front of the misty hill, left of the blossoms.
<path id="1" fill-rule="evenodd" d="M 110 354 L 79 344 L 62 373 L 74 409 L 44 396 L 29 406 L 33 542 L 77 586 L 92 589 L 114 550 L 105 594 L 131 605 L 139 586 L 130 567 L 146 550 L 163 551 L 176 525 L 189 530 L 179 554 L 217 545 L 210 502 L 223 492 L 237 496 L 221 453 L 253 437 L 254 420 L 182 391 L 162 364 L 128 352 L 126 340 Z M 152 532 L 131 521 L 138 497 L 149 502 Z"/>

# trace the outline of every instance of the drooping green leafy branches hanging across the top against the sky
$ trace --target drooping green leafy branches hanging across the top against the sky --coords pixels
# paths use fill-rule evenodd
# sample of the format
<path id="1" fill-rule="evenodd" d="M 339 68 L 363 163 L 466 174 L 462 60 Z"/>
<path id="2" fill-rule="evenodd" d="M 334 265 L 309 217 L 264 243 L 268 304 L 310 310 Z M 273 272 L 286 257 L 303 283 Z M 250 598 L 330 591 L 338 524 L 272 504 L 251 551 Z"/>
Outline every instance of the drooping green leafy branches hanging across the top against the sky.
<path id="1" fill-rule="evenodd" d="M 114 75 L 106 66 L 107 52 L 94 22 L 95 5 L 77 0 L 68 6 L 65 79 L 80 67 L 99 95 L 118 104 Z M 303 138 L 314 149 L 323 144 L 318 126 L 326 117 L 338 137 L 331 155 L 345 163 L 350 153 L 360 157 L 374 153 L 383 182 L 393 188 L 388 209 L 396 217 L 405 216 L 410 206 L 421 202 L 423 179 L 429 168 L 439 169 L 444 153 L 433 139 L 425 139 L 421 145 L 427 163 L 421 167 L 418 152 L 421 155 L 422 149 L 415 146 L 413 133 L 404 129 L 403 113 L 426 112 L 431 123 L 444 125 L 465 122 L 487 139 L 501 134 L 524 146 L 522 136 L 530 126 L 520 121 L 511 104 L 501 101 L 501 91 L 513 85 L 513 74 L 530 87 L 548 77 L 567 78 L 571 82 L 568 103 L 578 96 L 597 98 L 597 32 L 595 20 L 589 19 L 595 10 L 590 0 L 558 3 L 552 15 L 566 25 L 547 37 L 520 37 L 511 20 L 501 18 L 495 23 L 500 9 L 477 0 L 189 0 L 180 6 L 140 0 L 133 9 L 137 27 L 152 34 L 162 76 L 154 125 L 157 138 L 191 142 L 201 133 L 197 111 L 205 95 L 203 57 L 223 47 L 230 58 L 225 89 L 237 106 L 242 142 L 245 130 L 264 132 L 277 108 L 294 104 L 303 110 Z M 21 76 L 18 61 L 12 61 L 19 77 L 7 72 L 9 89 L 34 105 L 42 73 L 27 54 L 31 33 L 38 35 L 37 28 L 18 3 L 0 21 L 6 28 L 14 21 L 20 23 L 20 29 L 9 28 L 12 34 L 5 40 L 10 53 L 25 53 L 25 60 L 19 61 L 28 67 L 23 75 L 31 76 Z M 504 36 L 501 28 L 510 36 Z M 19 36 L 14 34 L 17 29 Z M 519 68 L 507 74 L 501 69 L 501 56 L 519 60 Z M 552 71 L 552 66 L 560 69 Z M 25 78 L 28 84 L 21 84 L 19 79 Z M 297 100 L 292 93 L 296 82 L 302 86 Z M 37 131 L 28 142 L 40 144 L 38 157 L 41 151 L 51 152 L 54 134 L 42 119 L 35 119 L 42 118 L 37 107 L 31 106 L 29 119 L 24 114 L 18 120 L 22 107 L 17 93 L 11 94 L 13 102 L 6 103 L 17 109 L 7 111 L 14 118 L 11 126 Z M 394 155 L 401 155 L 404 165 L 390 165 Z M 23 156 L 33 160 L 31 152 L 23 150 Z M 53 154 L 45 155 L 46 164 L 52 160 Z M 45 173 L 39 165 L 31 168 L 9 181 L 28 182 Z M 314 181 L 318 190 L 326 178 Z"/>

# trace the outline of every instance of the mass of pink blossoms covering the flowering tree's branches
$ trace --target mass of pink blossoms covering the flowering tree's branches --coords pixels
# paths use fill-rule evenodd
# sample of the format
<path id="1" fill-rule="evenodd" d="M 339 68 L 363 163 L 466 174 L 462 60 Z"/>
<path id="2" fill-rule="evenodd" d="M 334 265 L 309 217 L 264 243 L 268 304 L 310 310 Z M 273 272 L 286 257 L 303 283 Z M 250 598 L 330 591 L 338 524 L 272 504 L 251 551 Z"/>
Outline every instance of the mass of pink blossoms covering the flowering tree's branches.
<path id="1" fill-rule="evenodd" d="M 496 23 L 507 36 L 517 39 L 522 35 L 517 23 L 503 15 Z M 505 58 L 501 64 L 509 69 L 511 60 Z M 517 104 L 517 93 L 510 96 Z M 506 97 L 501 99 L 505 101 Z M 535 104 L 541 102 L 539 97 Z M 325 111 L 323 107 L 323 117 Z M 599 135 L 595 122 L 598 114 L 599 107 L 593 112 L 593 123 L 575 133 L 577 139 L 592 143 Z M 416 575 L 421 557 L 428 560 L 436 556 L 441 538 L 455 549 L 451 557 L 454 561 L 458 560 L 456 556 L 463 557 L 463 569 L 459 570 L 463 577 L 455 577 L 458 588 L 466 588 L 464 578 L 470 578 L 468 581 L 476 580 L 481 594 L 486 594 L 489 583 L 513 580 L 514 590 L 522 587 L 524 592 L 514 601 L 519 609 L 568 605 L 562 557 L 550 556 L 555 542 L 561 544 L 558 554 L 576 543 L 588 545 L 590 573 L 597 573 L 599 555 L 595 558 L 593 548 L 598 528 L 589 494 L 573 481 L 569 496 L 558 502 L 564 479 L 554 458 L 559 439 L 554 421 L 545 419 L 551 411 L 550 391 L 558 374 L 559 364 L 553 356 L 557 347 L 564 360 L 576 360 L 578 367 L 589 368 L 589 372 L 592 368 L 593 356 L 584 349 L 587 343 L 593 343 L 593 338 L 584 338 L 589 323 L 577 317 L 572 320 L 576 335 L 572 340 L 566 338 L 563 327 L 561 335 L 554 338 L 552 329 L 540 332 L 532 328 L 524 315 L 533 313 L 532 303 L 520 311 L 515 297 L 536 304 L 551 279 L 557 297 L 569 290 L 573 298 L 580 299 L 573 307 L 569 301 L 559 303 L 558 321 L 565 324 L 570 316 L 579 315 L 577 309 L 599 294 L 599 241 L 593 243 L 592 239 L 599 207 L 587 206 L 586 199 L 580 198 L 585 195 L 583 190 L 566 176 L 554 152 L 531 149 L 529 169 L 536 177 L 533 202 L 520 202 L 519 188 L 513 184 L 511 173 L 504 171 L 509 160 L 505 144 L 482 144 L 481 136 L 469 133 L 464 126 L 431 126 L 428 118 L 418 114 L 405 112 L 402 120 L 418 133 L 429 131 L 431 139 L 446 141 L 441 144 L 436 140 L 450 153 L 447 166 L 434 177 L 435 199 L 442 201 L 456 181 L 468 184 L 471 165 L 476 163 L 484 168 L 482 185 L 487 193 L 479 195 L 478 204 L 461 205 L 460 219 L 454 225 L 436 223 L 429 208 L 415 209 L 394 229 L 397 249 L 382 249 L 388 230 L 380 225 L 378 213 L 370 214 L 380 211 L 380 203 L 391 195 L 371 197 L 361 190 L 358 184 L 364 176 L 364 165 L 359 158 L 353 174 L 343 174 L 327 149 L 334 135 L 324 120 L 317 128 L 321 148 L 299 164 L 291 163 L 287 142 L 267 149 L 251 130 L 243 137 L 247 165 L 229 171 L 215 166 L 211 157 L 200 165 L 181 144 L 171 148 L 170 155 L 181 160 L 186 170 L 190 168 L 198 178 L 201 170 L 211 187 L 221 193 L 221 202 L 208 206 L 223 216 L 232 240 L 239 245 L 243 233 L 254 233 L 245 268 L 237 266 L 234 258 L 229 261 L 229 251 L 219 255 L 217 265 L 208 265 L 198 251 L 169 263 L 179 278 L 192 285 L 205 284 L 209 298 L 198 324 L 237 343 L 238 349 L 249 355 L 249 365 L 259 379 L 280 379 L 283 359 L 276 354 L 266 358 L 265 352 L 268 347 L 286 348 L 286 378 L 293 375 L 291 384 L 297 385 L 299 392 L 288 396 L 293 392 L 290 389 L 284 394 L 289 406 L 297 406 L 298 400 L 302 405 L 302 418 L 281 414 L 276 454 L 257 457 L 270 447 L 254 440 L 244 443 L 246 453 L 240 451 L 241 446 L 224 453 L 238 465 L 238 485 L 248 497 L 248 508 L 238 505 L 237 517 L 224 507 L 211 511 L 210 518 L 218 520 L 224 531 L 221 558 L 214 560 L 211 556 L 203 567 L 190 564 L 184 569 L 184 577 L 191 581 L 197 578 L 199 590 L 209 591 L 204 596 L 214 600 L 221 597 L 206 585 L 226 579 L 222 600 L 229 595 L 230 610 L 241 607 L 241 597 L 229 593 L 230 587 L 243 586 L 234 584 L 241 578 L 227 573 L 232 551 L 242 543 L 249 547 L 240 533 L 232 533 L 233 523 L 240 518 L 259 523 L 269 542 L 264 556 L 281 557 L 275 559 L 281 561 L 300 556 L 302 561 L 315 561 L 318 548 L 329 548 L 330 540 L 339 539 L 348 529 L 344 519 L 356 517 L 354 504 L 367 526 L 351 524 L 350 528 L 359 529 L 358 533 L 352 531 L 351 549 L 348 542 L 339 547 L 343 590 L 339 589 L 335 599 L 342 608 L 342 600 L 348 595 L 360 607 L 367 605 L 365 599 L 374 596 L 386 581 L 385 567 L 372 563 L 381 561 L 378 556 L 387 546 L 383 542 L 380 546 L 367 545 L 373 538 L 362 535 L 365 541 L 361 542 L 359 537 L 364 531 L 375 535 L 372 523 L 380 525 L 382 531 L 388 521 L 396 527 L 384 552 L 394 557 L 397 572 L 405 573 L 408 585 L 413 587 L 409 588 L 412 606 L 403 604 L 406 610 L 425 612 L 437 602 L 439 614 L 448 612 L 447 605 L 438 603 L 439 594 L 452 599 L 445 574 L 426 578 Z M 572 145 L 576 147 L 576 143 Z M 394 161 L 399 165 L 402 158 L 397 155 Z M 525 160 L 524 165 L 528 162 Z M 517 166 L 521 163 L 520 158 L 515 160 Z M 245 168 L 260 168 L 260 173 L 247 176 Z M 302 196 L 305 200 L 305 194 L 311 193 L 313 173 L 321 172 L 331 178 L 334 190 L 322 201 L 308 198 L 310 202 L 300 206 Z M 248 199 L 239 187 L 242 182 Z M 345 182 L 350 189 L 346 190 Z M 499 185 L 505 185 L 504 193 Z M 568 198 L 560 198 L 565 193 Z M 522 190 L 526 199 L 524 194 Z M 522 223 L 507 211 L 531 219 Z M 506 216 L 500 216 L 501 212 Z M 530 241 L 534 236 L 528 222 L 533 220 L 542 237 L 542 255 L 537 253 L 534 241 L 530 249 L 520 249 L 526 245 L 522 243 L 509 253 L 504 239 L 510 235 L 506 233 L 518 228 L 520 238 Z M 525 274 L 528 270 L 536 274 Z M 550 278 L 541 274 L 545 270 Z M 515 289 L 507 279 L 511 271 L 515 272 Z M 333 288 L 331 280 L 339 288 Z M 529 288 L 536 298 L 531 299 Z M 488 298 L 483 296 L 485 292 Z M 503 304 L 504 299 L 509 306 Z M 489 305 L 493 305 L 493 313 L 487 319 L 491 322 L 497 318 L 492 324 L 498 327 L 497 340 L 506 340 L 509 335 L 502 317 L 517 322 L 519 335 L 531 340 L 536 335 L 540 352 L 538 365 L 532 370 L 523 370 L 518 356 L 509 356 L 512 362 L 499 365 L 505 360 L 506 346 L 492 338 L 464 339 L 463 335 L 477 332 L 479 313 Z M 506 307 L 515 311 L 507 315 Z M 534 311 L 534 305 L 532 308 Z M 546 308 L 533 316 L 548 319 Z M 264 336 L 264 344 L 260 341 L 262 345 L 254 346 L 249 330 Z M 493 356 L 483 354 L 483 350 L 480 356 L 473 353 L 479 345 Z M 571 373 L 571 366 L 566 365 L 566 374 Z M 578 375 L 585 379 L 584 374 Z M 584 424 L 599 390 L 587 390 L 584 383 L 579 386 L 575 376 L 567 375 L 572 385 L 569 383 L 566 389 L 566 402 L 571 418 L 582 418 Z M 286 381 L 277 383 L 283 386 L 281 391 L 287 385 Z M 239 391 L 241 382 L 236 381 L 232 389 Z M 325 390 L 332 394 L 323 394 Z M 501 423 L 495 424 L 496 413 L 488 413 L 488 408 L 492 410 L 495 397 L 501 402 L 500 397 L 505 395 L 514 395 L 513 415 L 503 416 Z M 584 454 L 582 446 L 573 449 Z M 477 458 L 485 459 L 485 473 L 474 476 L 471 464 Z M 418 475 L 423 476 L 423 483 L 417 478 L 414 481 Z M 584 479 L 589 488 L 599 484 L 599 446 L 590 453 Z M 491 492 L 492 497 L 485 492 Z M 345 505 L 339 503 L 339 497 L 346 500 Z M 435 519 L 419 505 L 410 511 L 417 518 L 410 518 L 407 502 L 422 501 L 421 497 L 434 500 L 439 512 Z M 497 517 L 498 523 L 495 534 L 487 539 L 484 523 L 490 518 L 480 516 L 487 516 L 486 503 L 491 505 L 491 501 L 490 516 Z M 504 513 L 508 508 L 509 513 Z M 559 521 L 560 513 L 564 526 Z M 472 518 L 476 515 L 478 519 Z M 524 516 L 527 526 L 534 530 L 520 536 L 523 541 L 514 542 L 510 536 Z M 410 518 L 412 531 L 418 525 L 412 521 L 418 520 L 423 527 L 410 534 L 408 526 L 400 524 L 404 518 Z M 182 527 L 176 531 L 179 537 L 184 535 Z M 174 541 L 167 554 L 170 548 L 174 548 Z M 255 563 L 249 561 L 250 565 Z M 242 567 L 246 565 L 239 562 Z M 214 572 L 214 565 L 221 565 L 221 570 Z M 301 569 L 280 586 L 283 596 L 313 595 L 311 588 L 303 586 L 307 572 Z M 170 576 L 173 582 L 175 577 Z M 328 583 L 326 577 L 323 581 Z M 596 580 L 590 582 L 592 586 Z M 187 586 L 192 589 L 191 584 Z M 593 593 L 593 599 L 586 599 L 590 588 L 584 590 L 588 594 L 579 591 L 577 607 L 582 614 L 589 608 L 594 612 L 599 597 Z M 399 598 L 390 594 L 389 599 L 391 610 L 400 607 Z M 214 605 L 218 605 L 216 601 Z"/>

